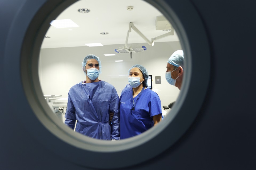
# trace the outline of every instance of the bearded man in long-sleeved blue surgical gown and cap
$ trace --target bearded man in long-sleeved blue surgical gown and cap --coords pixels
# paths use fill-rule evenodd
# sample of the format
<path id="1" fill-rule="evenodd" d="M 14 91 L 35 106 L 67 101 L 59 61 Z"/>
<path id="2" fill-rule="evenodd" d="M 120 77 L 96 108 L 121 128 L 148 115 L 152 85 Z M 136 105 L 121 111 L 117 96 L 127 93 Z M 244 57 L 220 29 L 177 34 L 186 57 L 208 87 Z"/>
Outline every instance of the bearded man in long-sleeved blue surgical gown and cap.
<path id="1" fill-rule="evenodd" d="M 101 74 L 99 57 L 86 56 L 82 70 L 86 80 L 69 90 L 65 124 L 91 138 L 119 140 L 119 96 L 114 86 L 98 79 Z"/>

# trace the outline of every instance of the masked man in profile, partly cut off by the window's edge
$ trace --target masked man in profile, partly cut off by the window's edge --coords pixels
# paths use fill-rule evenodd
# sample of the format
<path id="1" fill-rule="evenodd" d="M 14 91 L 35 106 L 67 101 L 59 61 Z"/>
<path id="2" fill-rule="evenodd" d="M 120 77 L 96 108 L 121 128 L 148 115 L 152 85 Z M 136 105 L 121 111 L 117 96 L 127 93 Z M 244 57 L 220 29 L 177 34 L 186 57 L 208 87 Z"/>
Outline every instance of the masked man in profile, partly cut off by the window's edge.
<path id="1" fill-rule="evenodd" d="M 167 61 L 165 78 L 167 82 L 181 90 L 183 77 L 184 53 L 183 50 L 175 51 Z"/>

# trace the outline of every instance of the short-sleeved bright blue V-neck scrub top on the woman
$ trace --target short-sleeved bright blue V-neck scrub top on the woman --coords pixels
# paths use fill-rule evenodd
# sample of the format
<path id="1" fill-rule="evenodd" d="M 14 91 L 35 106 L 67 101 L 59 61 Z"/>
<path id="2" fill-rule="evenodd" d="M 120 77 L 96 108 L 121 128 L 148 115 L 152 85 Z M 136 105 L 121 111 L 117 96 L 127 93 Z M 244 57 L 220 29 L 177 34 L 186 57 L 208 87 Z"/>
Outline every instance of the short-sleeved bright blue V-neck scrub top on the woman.
<path id="1" fill-rule="evenodd" d="M 120 139 L 133 137 L 150 129 L 154 126 L 153 116 L 162 114 L 159 96 L 149 88 L 142 91 L 134 110 L 132 108 L 133 90 L 131 86 L 126 86 L 120 96 Z"/>

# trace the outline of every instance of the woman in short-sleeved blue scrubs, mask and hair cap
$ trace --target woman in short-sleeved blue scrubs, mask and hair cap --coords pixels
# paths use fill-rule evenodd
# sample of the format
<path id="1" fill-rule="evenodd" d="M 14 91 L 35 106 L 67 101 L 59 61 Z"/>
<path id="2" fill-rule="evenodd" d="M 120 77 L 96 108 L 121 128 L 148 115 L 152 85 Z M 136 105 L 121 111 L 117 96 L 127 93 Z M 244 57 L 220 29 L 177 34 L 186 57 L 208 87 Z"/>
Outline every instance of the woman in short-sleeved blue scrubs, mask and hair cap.
<path id="1" fill-rule="evenodd" d="M 147 88 L 149 74 L 146 68 L 137 64 L 128 73 L 129 85 L 120 96 L 120 139 L 141 134 L 162 118 L 160 98 L 156 92 Z"/>

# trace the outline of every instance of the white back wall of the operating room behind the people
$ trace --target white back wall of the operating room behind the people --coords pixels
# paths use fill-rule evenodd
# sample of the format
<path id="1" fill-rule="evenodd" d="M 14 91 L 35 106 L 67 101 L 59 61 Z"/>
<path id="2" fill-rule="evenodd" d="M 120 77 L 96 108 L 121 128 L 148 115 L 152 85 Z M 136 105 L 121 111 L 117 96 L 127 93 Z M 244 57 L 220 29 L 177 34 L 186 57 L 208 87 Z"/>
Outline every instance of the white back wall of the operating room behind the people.
<path id="1" fill-rule="evenodd" d="M 149 75 L 152 75 L 153 91 L 159 95 L 162 106 L 168 106 L 177 99 L 179 89 L 166 81 L 165 72 L 168 58 L 174 51 L 181 49 L 179 42 L 161 42 L 155 43 L 154 46 L 149 46 L 147 43 L 133 44 L 133 46 L 146 46 L 147 50 L 133 53 L 132 59 L 130 54 L 118 54 L 114 51 L 121 46 L 124 44 L 41 49 L 39 79 L 43 94 L 67 97 L 71 86 L 86 79 L 81 65 L 83 58 L 88 54 L 94 54 L 102 62 L 102 74 L 99 79 L 112 84 L 119 96 L 128 84 L 130 67 L 141 64 L 148 70 Z M 112 53 L 116 56 L 103 55 Z M 155 84 L 155 76 L 161 76 L 161 84 Z"/>

